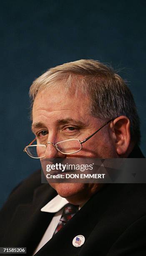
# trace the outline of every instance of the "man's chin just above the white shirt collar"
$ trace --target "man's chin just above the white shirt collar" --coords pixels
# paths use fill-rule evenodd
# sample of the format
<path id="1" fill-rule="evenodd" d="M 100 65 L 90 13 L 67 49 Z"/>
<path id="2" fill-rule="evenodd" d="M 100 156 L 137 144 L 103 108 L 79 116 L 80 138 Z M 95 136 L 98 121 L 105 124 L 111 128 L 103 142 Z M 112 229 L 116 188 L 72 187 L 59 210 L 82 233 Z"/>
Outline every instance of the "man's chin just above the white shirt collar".
<path id="1" fill-rule="evenodd" d="M 60 197 L 65 197 L 66 199 L 70 197 L 76 197 L 84 192 L 86 184 L 84 183 L 50 183 Z"/>

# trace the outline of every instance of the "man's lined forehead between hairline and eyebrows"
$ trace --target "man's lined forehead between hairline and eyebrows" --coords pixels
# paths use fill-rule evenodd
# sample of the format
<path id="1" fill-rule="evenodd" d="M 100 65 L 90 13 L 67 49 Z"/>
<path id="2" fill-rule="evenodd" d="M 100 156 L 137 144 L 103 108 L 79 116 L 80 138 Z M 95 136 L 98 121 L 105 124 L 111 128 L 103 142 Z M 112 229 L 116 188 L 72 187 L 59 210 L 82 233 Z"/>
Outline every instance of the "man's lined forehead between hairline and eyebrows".
<path id="1" fill-rule="evenodd" d="M 69 95 L 59 90 L 45 90 L 38 93 L 33 104 L 33 122 L 40 117 L 80 120 L 86 118 L 87 115 L 90 116 L 88 98 L 81 95 Z"/>

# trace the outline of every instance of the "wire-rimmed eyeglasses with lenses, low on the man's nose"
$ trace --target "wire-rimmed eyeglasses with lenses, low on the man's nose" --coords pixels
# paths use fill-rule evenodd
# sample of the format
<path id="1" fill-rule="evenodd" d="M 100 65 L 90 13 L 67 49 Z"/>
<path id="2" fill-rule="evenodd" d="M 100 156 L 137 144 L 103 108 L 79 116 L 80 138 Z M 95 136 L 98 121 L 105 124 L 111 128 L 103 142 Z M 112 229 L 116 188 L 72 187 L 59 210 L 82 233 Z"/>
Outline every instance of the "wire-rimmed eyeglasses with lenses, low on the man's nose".
<path id="1" fill-rule="evenodd" d="M 102 125 L 96 132 L 94 132 L 93 134 L 91 134 L 90 136 L 88 136 L 87 138 L 85 138 L 83 141 L 80 141 L 76 138 L 72 138 L 72 139 L 68 139 L 65 141 L 59 141 L 55 144 L 53 144 L 52 142 L 48 141 L 45 145 L 32 145 L 32 143 L 34 141 L 36 141 L 36 138 L 30 142 L 30 144 L 28 146 L 26 146 L 24 148 L 24 152 L 26 152 L 28 154 L 28 156 L 32 157 L 32 158 L 36 158 L 36 159 L 40 159 L 45 157 L 45 151 L 47 148 L 48 144 L 51 144 L 55 147 L 55 149 L 57 151 L 59 151 L 62 154 L 65 155 L 70 155 L 70 154 L 74 154 L 77 153 L 79 151 L 81 151 L 82 149 L 82 144 L 85 143 L 86 141 L 88 141 L 94 134 L 96 134 L 98 131 L 100 131 L 105 125 L 107 125 L 108 123 L 110 123 L 111 121 L 113 121 L 115 118 L 109 120 L 108 122 L 106 122 L 104 125 Z"/>

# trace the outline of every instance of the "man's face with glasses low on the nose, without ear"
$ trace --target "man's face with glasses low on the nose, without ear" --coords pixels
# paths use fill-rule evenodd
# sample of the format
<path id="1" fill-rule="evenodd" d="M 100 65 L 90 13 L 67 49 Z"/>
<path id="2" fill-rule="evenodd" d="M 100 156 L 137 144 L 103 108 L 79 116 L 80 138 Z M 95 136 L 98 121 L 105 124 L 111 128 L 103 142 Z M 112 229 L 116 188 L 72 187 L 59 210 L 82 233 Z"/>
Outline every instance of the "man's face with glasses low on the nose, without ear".
<path id="1" fill-rule="evenodd" d="M 39 144 L 46 144 L 48 141 L 55 144 L 70 138 L 83 141 L 104 123 L 105 121 L 91 115 L 88 99 L 83 96 L 70 96 L 60 93 L 59 90 L 49 89 L 38 93 L 35 98 L 32 127 Z M 117 157 L 109 125 L 102 128 L 82 146 L 82 150 L 78 153 L 65 155 L 58 152 L 53 145 L 48 144 L 45 157 Z M 88 200 L 99 187 L 99 184 L 76 183 L 52 183 L 50 185 L 60 196 L 77 204 Z"/>

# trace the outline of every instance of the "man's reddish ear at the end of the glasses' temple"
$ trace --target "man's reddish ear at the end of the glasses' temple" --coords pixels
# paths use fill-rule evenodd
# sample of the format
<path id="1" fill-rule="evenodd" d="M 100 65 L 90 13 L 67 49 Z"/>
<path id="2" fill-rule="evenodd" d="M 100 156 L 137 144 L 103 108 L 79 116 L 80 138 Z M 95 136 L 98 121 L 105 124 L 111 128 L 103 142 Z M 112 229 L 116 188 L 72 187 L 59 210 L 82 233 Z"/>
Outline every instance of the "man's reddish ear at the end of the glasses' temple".
<path id="1" fill-rule="evenodd" d="M 113 123 L 111 123 L 111 129 L 117 154 L 126 154 L 131 139 L 130 120 L 125 115 L 121 115 L 113 120 Z"/>

